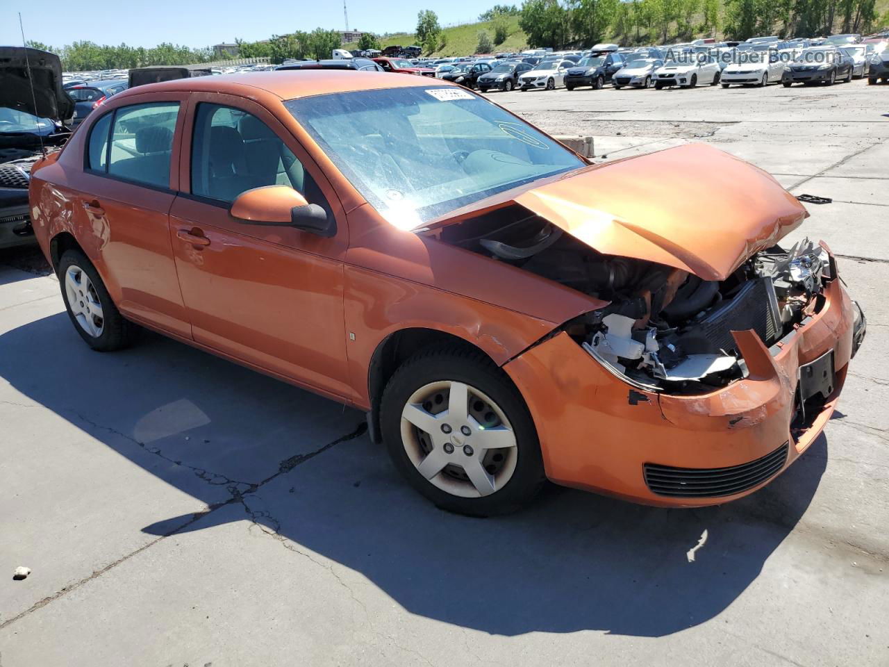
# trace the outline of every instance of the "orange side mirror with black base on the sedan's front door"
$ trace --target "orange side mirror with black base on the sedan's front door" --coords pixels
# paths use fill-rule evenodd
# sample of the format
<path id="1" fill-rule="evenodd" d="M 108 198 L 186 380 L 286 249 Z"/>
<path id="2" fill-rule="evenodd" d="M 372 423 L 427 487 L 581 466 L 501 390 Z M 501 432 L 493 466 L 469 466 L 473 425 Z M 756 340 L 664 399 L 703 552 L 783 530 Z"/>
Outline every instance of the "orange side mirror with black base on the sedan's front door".
<path id="1" fill-rule="evenodd" d="M 319 237 L 336 234 L 336 222 L 328 220 L 327 212 L 317 204 L 309 204 L 306 197 L 288 185 L 245 190 L 232 202 L 229 213 L 248 225 L 295 227 Z"/>

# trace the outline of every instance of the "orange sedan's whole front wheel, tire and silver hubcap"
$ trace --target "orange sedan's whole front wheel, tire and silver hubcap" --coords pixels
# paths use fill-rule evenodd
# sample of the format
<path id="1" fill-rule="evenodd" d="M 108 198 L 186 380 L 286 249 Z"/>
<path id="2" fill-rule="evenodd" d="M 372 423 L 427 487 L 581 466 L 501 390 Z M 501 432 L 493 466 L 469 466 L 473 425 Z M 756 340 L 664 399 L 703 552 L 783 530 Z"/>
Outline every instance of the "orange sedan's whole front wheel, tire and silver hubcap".
<path id="1" fill-rule="evenodd" d="M 525 401 L 481 353 L 440 348 L 408 359 L 383 393 L 380 426 L 396 468 L 443 510 L 504 514 L 545 481 Z"/>

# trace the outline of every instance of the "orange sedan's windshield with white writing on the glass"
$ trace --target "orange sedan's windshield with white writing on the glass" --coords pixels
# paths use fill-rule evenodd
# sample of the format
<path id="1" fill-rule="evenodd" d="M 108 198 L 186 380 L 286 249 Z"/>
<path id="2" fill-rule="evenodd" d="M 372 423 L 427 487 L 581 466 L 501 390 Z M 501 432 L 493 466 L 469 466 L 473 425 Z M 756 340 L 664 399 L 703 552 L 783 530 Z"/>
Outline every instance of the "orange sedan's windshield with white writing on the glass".
<path id="1" fill-rule="evenodd" d="M 343 92 L 284 106 L 340 172 L 402 229 L 585 163 L 471 92 Z"/>

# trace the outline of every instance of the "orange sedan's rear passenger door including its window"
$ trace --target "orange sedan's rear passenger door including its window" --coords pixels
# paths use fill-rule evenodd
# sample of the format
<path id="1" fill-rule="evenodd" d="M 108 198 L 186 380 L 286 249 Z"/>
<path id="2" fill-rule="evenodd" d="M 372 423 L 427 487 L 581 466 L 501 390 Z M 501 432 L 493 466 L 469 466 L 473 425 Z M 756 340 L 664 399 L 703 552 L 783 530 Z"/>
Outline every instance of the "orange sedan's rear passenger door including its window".
<path id="1" fill-rule="evenodd" d="M 128 317 L 190 337 L 170 243 L 179 188 L 185 93 L 140 96 L 89 128 L 83 173 L 72 174 L 76 216 L 90 229 L 102 277 Z M 102 107 L 96 114 L 102 113 Z"/>

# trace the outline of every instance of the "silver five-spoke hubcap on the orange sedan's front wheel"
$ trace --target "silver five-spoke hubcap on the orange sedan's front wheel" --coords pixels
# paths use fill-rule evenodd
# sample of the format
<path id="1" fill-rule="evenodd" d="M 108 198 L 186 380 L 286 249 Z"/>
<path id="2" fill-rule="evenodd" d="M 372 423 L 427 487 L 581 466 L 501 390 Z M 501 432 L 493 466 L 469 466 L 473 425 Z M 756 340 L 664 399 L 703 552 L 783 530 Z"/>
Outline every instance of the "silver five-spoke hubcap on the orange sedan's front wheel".
<path id="1" fill-rule="evenodd" d="M 506 414 L 463 382 L 430 382 L 414 391 L 402 411 L 401 438 L 420 475 L 448 494 L 493 494 L 516 471 L 516 434 Z"/>

